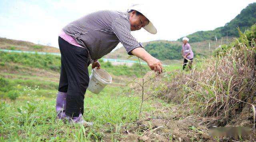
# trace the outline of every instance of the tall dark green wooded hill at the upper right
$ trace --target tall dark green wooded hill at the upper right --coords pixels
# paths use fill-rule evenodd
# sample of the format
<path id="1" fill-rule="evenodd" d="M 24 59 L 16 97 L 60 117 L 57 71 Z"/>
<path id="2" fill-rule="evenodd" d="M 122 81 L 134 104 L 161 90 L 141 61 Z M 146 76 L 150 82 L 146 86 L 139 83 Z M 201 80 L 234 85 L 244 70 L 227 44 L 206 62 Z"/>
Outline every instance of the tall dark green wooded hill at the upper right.
<path id="1" fill-rule="evenodd" d="M 242 32 L 246 29 L 250 28 L 253 24 L 256 23 L 256 3 L 249 4 L 246 8 L 244 8 L 240 14 L 238 14 L 233 20 L 225 24 L 223 27 L 216 28 L 215 30 L 210 31 L 198 31 L 193 34 L 188 35 L 187 37 L 190 39 L 190 42 L 199 42 L 204 40 L 215 40 L 215 36 L 217 39 L 221 37 L 230 36 L 230 37 L 238 37 L 239 34 L 236 28 L 240 28 Z M 181 41 L 182 37 L 178 39 Z"/>

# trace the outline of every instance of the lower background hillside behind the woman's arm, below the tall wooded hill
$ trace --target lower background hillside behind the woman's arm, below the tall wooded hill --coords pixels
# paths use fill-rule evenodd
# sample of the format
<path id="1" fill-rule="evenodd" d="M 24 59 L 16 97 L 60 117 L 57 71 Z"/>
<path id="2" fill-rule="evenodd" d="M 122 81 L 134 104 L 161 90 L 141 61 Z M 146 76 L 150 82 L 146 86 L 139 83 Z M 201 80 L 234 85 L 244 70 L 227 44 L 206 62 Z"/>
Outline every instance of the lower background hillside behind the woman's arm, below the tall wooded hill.
<path id="1" fill-rule="evenodd" d="M 216 49 L 218 45 L 224 43 L 230 43 L 234 41 L 234 38 L 223 37 L 222 39 L 218 39 L 216 41 L 212 40 L 205 40 L 200 42 L 192 42 L 190 43 L 192 50 L 194 51 L 195 55 L 204 55 L 208 56 L 212 54 L 212 51 Z M 210 48 L 209 48 L 210 43 Z M 176 63 L 181 58 L 181 49 L 182 49 L 182 42 L 181 41 L 168 41 L 168 40 L 156 40 L 142 43 L 144 49 L 152 54 L 154 57 L 160 59 L 163 63 Z M 152 48 L 154 45 L 154 48 Z M 151 46 L 151 47 L 150 47 Z M 164 52 L 165 55 L 169 55 L 166 58 L 163 58 L 160 52 Z M 125 59 L 125 60 L 133 60 L 138 61 L 137 57 L 131 57 L 128 59 L 128 54 L 124 47 L 120 47 L 116 49 L 114 52 L 109 53 L 108 55 L 104 56 L 105 58 L 112 58 L 112 59 Z"/>

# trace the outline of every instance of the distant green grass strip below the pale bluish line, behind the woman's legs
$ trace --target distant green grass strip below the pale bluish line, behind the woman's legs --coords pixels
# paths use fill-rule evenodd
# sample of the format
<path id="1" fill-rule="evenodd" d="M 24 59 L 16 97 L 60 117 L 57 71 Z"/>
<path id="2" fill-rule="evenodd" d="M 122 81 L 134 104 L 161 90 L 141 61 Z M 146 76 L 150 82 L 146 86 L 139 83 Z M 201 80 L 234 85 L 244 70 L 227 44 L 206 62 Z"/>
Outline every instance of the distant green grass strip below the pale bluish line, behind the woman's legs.
<path id="1" fill-rule="evenodd" d="M 110 62 L 104 63 L 102 60 L 100 62 L 102 68 L 110 74 L 116 76 L 125 75 L 128 77 L 140 76 L 140 66 L 138 63 L 129 67 L 126 65 L 112 65 Z M 19 69 L 20 65 L 22 65 L 24 67 L 51 70 L 58 73 L 60 73 L 61 66 L 60 57 L 55 55 L 0 52 L 0 65 L 4 67 L 6 63 L 16 63 L 17 65 L 13 66 L 13 70 Z M 150 70 L 147 65 L 142 65 L 142 68 L 143 73 Z M 90 68 L 89 73 L 91 73 Z"/>

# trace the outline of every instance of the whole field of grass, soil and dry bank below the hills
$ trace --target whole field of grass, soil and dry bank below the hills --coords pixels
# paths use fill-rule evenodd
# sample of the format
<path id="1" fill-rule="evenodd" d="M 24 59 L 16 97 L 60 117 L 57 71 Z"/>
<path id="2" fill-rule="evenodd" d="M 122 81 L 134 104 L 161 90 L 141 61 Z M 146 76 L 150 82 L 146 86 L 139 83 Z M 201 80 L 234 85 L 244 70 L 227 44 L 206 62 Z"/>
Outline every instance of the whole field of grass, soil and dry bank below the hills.
<path id="1" fill-rule="evenodd" d="M 86 91 L 93 126 L 56 119 L 60 57 L 0 52 L 0 141 L 255 141 L 255 29 L 197 57 L 192 70 L 177 62 L 156 75 L 102 62 L 113 83 Z"/>

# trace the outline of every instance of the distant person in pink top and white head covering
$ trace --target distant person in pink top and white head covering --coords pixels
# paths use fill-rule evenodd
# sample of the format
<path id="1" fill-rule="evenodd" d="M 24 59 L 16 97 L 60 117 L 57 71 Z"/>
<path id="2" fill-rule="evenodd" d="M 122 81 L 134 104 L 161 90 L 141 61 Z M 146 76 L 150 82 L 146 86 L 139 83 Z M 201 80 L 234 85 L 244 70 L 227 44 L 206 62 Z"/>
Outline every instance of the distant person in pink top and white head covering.
<path id="1" fill-rule="evenodd" d="M 188 69 L 192 68 L 192 62 L 194 58 L 194 53 L 188 41 L 189 41 L 188 37 L 183 37 L 182 39 L 183 45 L 182 45 L 182 51 L 181 51 L 182 58 L 184 58 L 183 70 L 186 68 L 187 64 L 188 64 Z"/>

